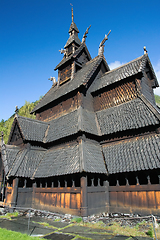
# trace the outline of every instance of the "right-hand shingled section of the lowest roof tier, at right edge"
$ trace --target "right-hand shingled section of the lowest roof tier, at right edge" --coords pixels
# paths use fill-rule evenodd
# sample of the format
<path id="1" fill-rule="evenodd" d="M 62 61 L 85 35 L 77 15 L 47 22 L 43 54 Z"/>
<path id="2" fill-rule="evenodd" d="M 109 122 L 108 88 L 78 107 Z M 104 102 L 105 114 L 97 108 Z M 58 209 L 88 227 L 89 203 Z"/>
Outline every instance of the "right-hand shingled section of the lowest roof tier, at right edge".
<path id="1" fill-rule="evenodd" d="M 160 168 L 160 134 L 102 146 L 110 174 Z"/>

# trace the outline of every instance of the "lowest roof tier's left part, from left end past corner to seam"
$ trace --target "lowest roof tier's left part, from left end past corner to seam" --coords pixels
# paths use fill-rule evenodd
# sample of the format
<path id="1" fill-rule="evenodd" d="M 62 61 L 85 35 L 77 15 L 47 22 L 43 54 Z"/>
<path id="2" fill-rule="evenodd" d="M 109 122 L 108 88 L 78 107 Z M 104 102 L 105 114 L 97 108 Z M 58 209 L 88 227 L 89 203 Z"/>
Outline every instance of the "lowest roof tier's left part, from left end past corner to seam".
<path id="1" fill-rule="evenodd" d="M 66 143 L 46 150 L 26 146 L 23 149 L 6 145 L 7 177 L 42 178 L 80 172 L 105 173 L 101 147 L 91 140 Z M 98 159 L 98 161 L 97 161 Z"/>

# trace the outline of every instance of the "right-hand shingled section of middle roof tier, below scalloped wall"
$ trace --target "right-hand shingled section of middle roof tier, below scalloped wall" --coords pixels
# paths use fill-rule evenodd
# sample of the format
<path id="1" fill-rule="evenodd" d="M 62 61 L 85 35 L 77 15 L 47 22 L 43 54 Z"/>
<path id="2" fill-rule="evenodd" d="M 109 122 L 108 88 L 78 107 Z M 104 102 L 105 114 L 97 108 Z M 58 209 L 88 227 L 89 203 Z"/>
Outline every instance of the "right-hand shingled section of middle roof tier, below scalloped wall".
<path id="1" fill-rule="evenodd" d="M 159 124 L 159 119 L 139 98 L 98 111 L 96 115 L 102 135 Z"/>

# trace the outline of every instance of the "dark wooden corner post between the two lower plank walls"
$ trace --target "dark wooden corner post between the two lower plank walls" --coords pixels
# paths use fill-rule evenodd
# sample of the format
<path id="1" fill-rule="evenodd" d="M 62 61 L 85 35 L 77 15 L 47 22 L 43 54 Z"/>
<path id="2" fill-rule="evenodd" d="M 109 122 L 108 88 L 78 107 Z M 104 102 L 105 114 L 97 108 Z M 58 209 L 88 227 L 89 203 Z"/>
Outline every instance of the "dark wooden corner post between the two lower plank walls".
<path id="1" fill-rule="evenodd" d="M 81 177 L 81 216 L 88 216 L 87 176 Z"/>

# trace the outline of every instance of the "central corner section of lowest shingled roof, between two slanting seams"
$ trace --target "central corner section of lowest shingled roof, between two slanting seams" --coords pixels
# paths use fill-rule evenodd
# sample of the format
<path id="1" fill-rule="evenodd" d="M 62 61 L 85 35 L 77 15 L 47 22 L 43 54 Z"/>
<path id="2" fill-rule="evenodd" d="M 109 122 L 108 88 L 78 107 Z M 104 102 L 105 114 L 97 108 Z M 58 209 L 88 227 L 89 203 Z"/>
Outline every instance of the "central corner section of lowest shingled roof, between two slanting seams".
<path id="1" fill-rule="evenodd" d="M 105 163 L 98 143 L 81 140 L 47 150 L 39 164 L 35 178 L 59 176 L 79 172 L 105 173 Z"/>

